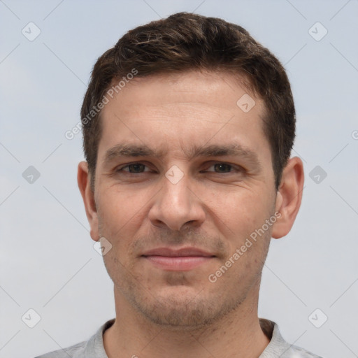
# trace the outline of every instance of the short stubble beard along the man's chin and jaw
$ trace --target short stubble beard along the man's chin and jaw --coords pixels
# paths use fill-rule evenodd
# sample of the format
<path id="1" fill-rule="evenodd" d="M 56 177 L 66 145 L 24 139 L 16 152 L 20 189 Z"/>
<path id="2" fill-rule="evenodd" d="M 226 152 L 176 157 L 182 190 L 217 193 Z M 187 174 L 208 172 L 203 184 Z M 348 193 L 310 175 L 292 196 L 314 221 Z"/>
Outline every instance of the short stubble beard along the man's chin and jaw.
<path id="1" fill-rule="evenodd" d="M 270 237 L 262 238 L 262 240 L 268 240 L 266 247 L 262 248 L 264 250 L 264 257 L 262 257 L 264 261 L 268 252 L 271 232 L 266 234 Z M 237 310 L 249 294 L 251 294 L 250 299 L 255 295 L 258 299 L 264 261 L 256 267 L 255 272 L 250 273 L 252 278 L 250 282 L 245 282 L 245 286 L 243 286 L 243 282 L 237 280 L 229 282 L 230 287 L 228 285 L 225 287 L 217 286 L 215 294 L 213 294 L 213 291 L 206 294 L 206 286 L 203 285 L 203 287 L 198 287 L 195 292 L 192 290 L 189 295 L 173 292 L 169 295 L 155 296 L 157 294 L 155 291 L 149 292 L 145 284 L 142 284 L 142 274 L 134 275 L 134 267 L 125 267 L 117 259 L 114 251 L 108 252 L 103 259 L 108 275 L 115 285 L 116 294 L 124 297 L 130 306 L 145 317 L 148 322 L 165 327 L 165 329 L 172 331 L 205 329 Z M 258 252 L 257 254 L 260 255 Z M 255 258 L 252 257 L 252 260 L 255 261 Z M 236 263 L 236 265 L 240 264 Z M 171 273 L 166 276 L 166 283 L 173 289 L 180 284 L 180 280 L 181 285 L 187 283 L 185 282 L 185 273 L 182 273 L 181 279 L 178 278 L 178 275 L 174 276 Z M 217 284 L 210 283 L 210 285 Z M 236 292 L 233 292 L 233 290 Z M 224 294 L 222 294 L 223 291 Z M 227 291 L 230 293 L 227 294 Z M 257 305 L 257 301 L 254 304 Z"/>

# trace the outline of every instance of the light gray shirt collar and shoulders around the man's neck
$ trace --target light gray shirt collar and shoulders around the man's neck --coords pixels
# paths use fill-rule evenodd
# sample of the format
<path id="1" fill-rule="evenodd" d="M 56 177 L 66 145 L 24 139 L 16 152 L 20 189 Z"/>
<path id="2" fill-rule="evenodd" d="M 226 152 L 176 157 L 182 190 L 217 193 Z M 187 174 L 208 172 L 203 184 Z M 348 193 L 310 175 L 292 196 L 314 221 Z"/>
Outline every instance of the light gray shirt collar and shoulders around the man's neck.
<path id="1" fill-rule="evenodd" d="M 114 318 L 107 321 L 88 341 L 83 341 L 76 345 L 71 345 L 69 348 L 56 350 L 36 358 L 108 358 L 103 347 L 103 332 L 112 326 L 114 322 Z M 259 358 L 322 358 L 303 348 L 287 343 L 282 338 L 278 324 L 275 322 L 264 318 L 260 318 L 259 322 L 262 330 L 271 340 Z"/>

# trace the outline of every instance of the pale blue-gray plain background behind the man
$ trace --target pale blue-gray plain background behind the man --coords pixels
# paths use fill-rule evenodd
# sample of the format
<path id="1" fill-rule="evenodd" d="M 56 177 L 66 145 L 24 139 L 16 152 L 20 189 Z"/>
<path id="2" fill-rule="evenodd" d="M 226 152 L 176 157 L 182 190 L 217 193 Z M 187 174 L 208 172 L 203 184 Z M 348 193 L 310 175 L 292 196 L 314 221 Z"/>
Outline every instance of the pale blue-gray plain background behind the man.
<path id="1" fill-rule="evenodd" d="M 113 285 L 94 250 L 76 183 L 90 71 L 128 29 L 179 11 L 250 31 L 285 64 L 297 111 L 301 211 L 273 240 L 259 316 L 324 358 L 357 357 L 358 1 L 0 1 L 0 357 L 35 357 L 89 338 L 114 317 Z M 30 42 L 22 29 L 34 22 Z M 308 29 L 321 22 L 327 36 Z M 353 136 L 352 136 L 353 134 Z M 35 166 L 29 184 L 22 173 Z M 315 166 L 327 172 L 320 184 Z M 22 322 L 33 308 L 41 321 Z M 320 328 L 308 317 L 320 308 Z"/>

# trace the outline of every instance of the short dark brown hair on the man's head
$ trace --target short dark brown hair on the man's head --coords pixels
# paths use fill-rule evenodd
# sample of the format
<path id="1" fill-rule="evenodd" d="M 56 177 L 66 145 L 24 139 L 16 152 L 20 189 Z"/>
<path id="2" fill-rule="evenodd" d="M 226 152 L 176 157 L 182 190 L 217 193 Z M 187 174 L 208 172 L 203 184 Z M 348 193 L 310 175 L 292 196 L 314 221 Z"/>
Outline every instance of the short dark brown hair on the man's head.
<path id="1" fill-rule="evenodd" d="M 194 13 L 176 13 L 128 31 L 94 64 L 81 108 L 83 149 L 93 189 L 101 138 L 98 105 L 113 80 L 120 80 L 134 69 L 136 76 L 206 69 L 244 78 L 248 90 L 265 103 L 264 133 L 271 146 L 278 189 L 296 129 L 294 100 L 285 69 L 243 27 Z"/>

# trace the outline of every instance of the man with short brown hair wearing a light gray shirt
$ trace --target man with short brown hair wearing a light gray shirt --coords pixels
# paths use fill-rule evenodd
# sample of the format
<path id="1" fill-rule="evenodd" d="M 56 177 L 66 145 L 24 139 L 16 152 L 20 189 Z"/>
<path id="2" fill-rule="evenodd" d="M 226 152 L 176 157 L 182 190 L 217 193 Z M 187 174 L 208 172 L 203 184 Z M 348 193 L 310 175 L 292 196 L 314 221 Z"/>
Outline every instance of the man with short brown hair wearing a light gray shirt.
<path id="1" fill-rule="evenodd" d="M 41 357 L 317 357 L 257 316 L 304 180 L 278 59 L 236 24 L 171 15 L 97 60 L 81 117 L 78 186 L 116 317 Z"/>

